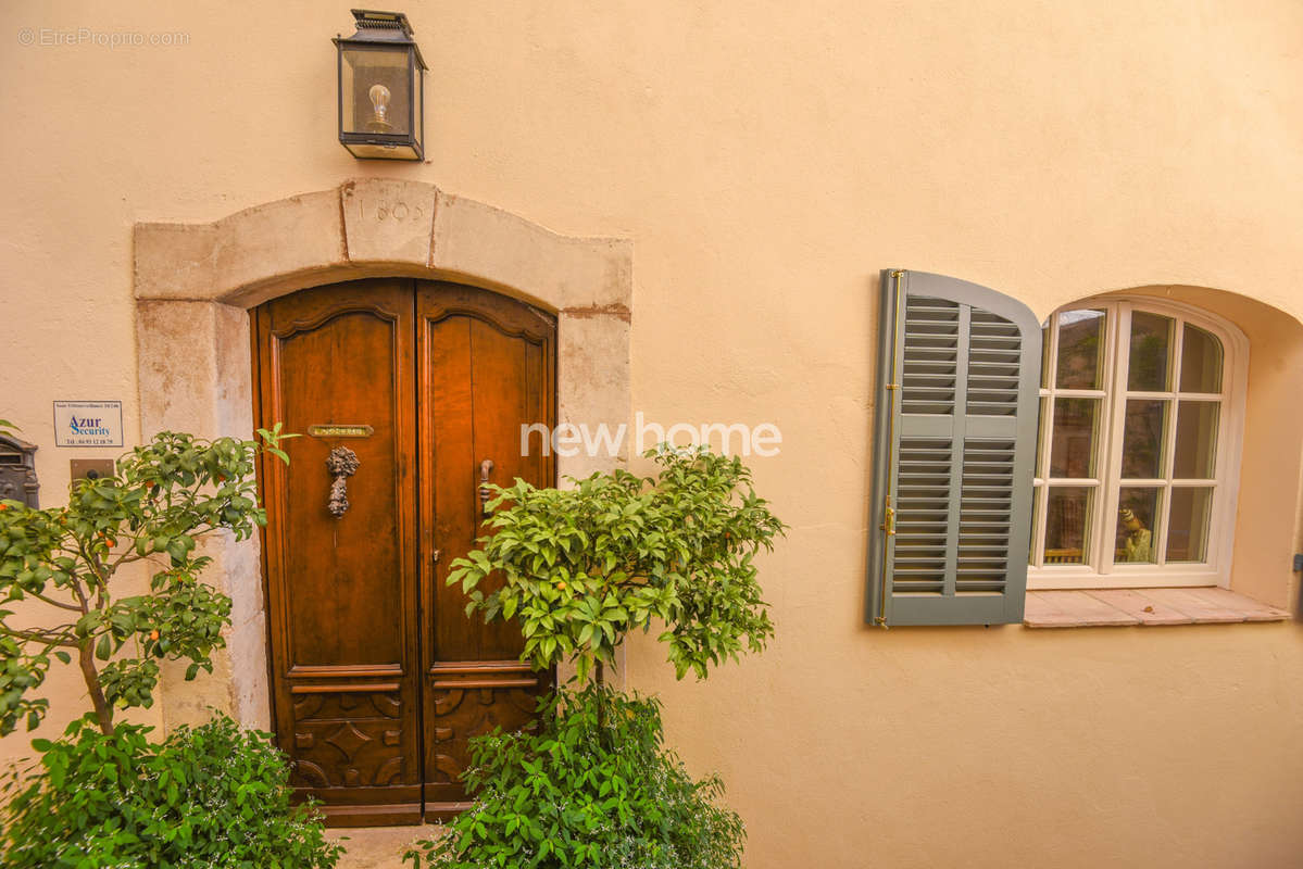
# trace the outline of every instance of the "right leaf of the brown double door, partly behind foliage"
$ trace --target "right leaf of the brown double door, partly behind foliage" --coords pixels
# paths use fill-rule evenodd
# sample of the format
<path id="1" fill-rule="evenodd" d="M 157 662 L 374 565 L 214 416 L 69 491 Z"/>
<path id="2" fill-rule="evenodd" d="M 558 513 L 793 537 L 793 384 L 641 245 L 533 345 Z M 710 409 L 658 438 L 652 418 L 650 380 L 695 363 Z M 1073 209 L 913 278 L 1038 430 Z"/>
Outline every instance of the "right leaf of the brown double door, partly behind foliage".
<path id="1" fill-rule="evenodd" d="M 425 813 L 465 808 L 457 776 L 466 739 L 529 723 L 550 688 L 520 663 L 515 623 L 485 625 L 465 616 L 466 598 L 444 578 L 480 533 L 480 483 L 552 483 L 551 457 L 523 456 L 521 426 L 555 417 L 555 321 L 532 307 L 456 284 L 422 281 L 417 293 L 417 377 L 421 408 L 421 526 L 427 576 L 422 624 L 425 674 Z M 487 589 L 485 589 L 487 590 Z"/>

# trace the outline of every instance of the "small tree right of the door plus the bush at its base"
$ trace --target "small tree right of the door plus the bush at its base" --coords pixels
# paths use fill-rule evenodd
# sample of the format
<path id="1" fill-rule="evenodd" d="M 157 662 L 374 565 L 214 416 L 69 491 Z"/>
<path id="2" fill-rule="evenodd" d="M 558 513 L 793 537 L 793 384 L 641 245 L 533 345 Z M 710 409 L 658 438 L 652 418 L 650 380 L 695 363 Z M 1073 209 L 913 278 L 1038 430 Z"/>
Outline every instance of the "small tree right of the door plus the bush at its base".
<path id="1" fill-rule="evenodd" d="M 476 804 L 447 835 L 405 855 L 417 866 L 736 869 L 745 831 L 666 748 L 659 704 L 589 680 L 631 631 L 663 624 L 675 675 L 760 651 L 773 636 L 753 558 L 784 525 L 736 457 L 662 447 L 655 477 L 616 470 L 567 490 L 498 489 L 482 548 L 448 582 L 466 615 L 516 619 L 523 659 L 573 662 L 579 687 L 539 701 L 534 732 L 470 740 Z"/>

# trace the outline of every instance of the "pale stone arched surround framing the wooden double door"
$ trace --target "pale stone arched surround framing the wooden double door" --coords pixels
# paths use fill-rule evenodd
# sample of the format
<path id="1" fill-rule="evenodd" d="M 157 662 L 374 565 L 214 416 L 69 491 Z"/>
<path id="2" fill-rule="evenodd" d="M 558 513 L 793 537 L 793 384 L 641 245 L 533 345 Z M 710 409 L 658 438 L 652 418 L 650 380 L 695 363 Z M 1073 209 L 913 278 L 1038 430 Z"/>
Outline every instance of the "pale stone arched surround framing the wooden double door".
<path id="1" fill-rule="evenodd" d="M 134 227 L 141 436 L 173 429 L 249 436 L 248 310 L 278 296 L 362 278 L 451 280 L 556 314 L 559 422 L 624 425 L 629 416 L 632 242 L 560 236 L 431 184 L 347 181 L 202 224 Z M 627 443 L 627 440 L 625 440 Z M 558 456 L 582 477 L 628 459 Z M 208 707 L 271 726 L 266 614 L 257 539 L 210 541 L 211 578 L 231 595 L 232 628 L 211 677 L 164 668 L 167 727 Z"/>

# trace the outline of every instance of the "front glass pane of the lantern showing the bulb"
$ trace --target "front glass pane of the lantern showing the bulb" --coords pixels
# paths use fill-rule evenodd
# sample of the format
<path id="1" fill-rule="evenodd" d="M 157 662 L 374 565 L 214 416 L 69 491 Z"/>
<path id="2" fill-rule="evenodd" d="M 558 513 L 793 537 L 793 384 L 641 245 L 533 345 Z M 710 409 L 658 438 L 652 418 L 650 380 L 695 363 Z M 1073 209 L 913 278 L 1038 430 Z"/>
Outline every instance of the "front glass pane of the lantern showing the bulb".
<path id="1" fill-rule="evenodd" d="M 405 46 L 341 47 L 339 98 L 343 133 L 403 138 L 412 134 L 413 78 L 409 59 Z"/>

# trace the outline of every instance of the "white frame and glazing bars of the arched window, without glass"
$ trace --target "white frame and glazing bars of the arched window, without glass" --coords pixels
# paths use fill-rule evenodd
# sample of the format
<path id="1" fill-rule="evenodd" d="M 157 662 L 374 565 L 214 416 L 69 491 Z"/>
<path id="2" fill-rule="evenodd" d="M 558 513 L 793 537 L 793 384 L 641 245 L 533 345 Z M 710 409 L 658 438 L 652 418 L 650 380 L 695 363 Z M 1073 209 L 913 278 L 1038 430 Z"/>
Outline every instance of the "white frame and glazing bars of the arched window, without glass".
<path id="1" fill-rule="evenodd" d="M 1097 453 L 1095 456 L 1095 482 L 1091 529 L 1092 535 L 1085 543 L 1087 564 L 1050 564 L 1045 562 L 1045 506 L 1049 487 L 1054 481 L 1037 476 L 1033 491 L 1033 526 L 1031 565 L 1027 572 L 1027 588 L 1035 589 L 1127 589 L 1160 586 L 1230 586 L 1230 565 L 1235 542 L 1235 515 L 1239 499 L 1239 468 L 1244 439 L 1244 406 L 1248 392 L 1248 337 L 1233 323 L 1205 310 L 1151 297 L 1110 296 L 1106 298 L 1083 300 L 1055 310 L 1046 322 L 1049 340 L 1041 348 L 1045 354 L 1042 370 L 1054 375 L 1058 360 L 1058 318 L 1070 310 L 1105 310 L 1105 350 L 1101 363 L 1106 390 L 1058 390 L 1050 379 L 1048 387 L 1040 390 L 1042 406 L 1049 406 L 1037 434 L 1036 468 L 1049 468 L 1049 449 L 1053 429 L 1054 396 L 1093 397 L 1101 400 L 1100 426 L 1097 433 Z M 1174 347 L 1169 356 L 1171 384 L 1181 386 L 1182 348 L 1184 347 L 1184 323 L 1190 323 L 1214 335 L 1222 343 L 1222 391 L 1220 393 L 1191 393 L 1174 388 L 1170 392 L 1128 392 L 1127 366 L 1119 365 L 1123 352 L 1130 352 L 1131 314 L 1143 311 L 1170 317 L 1177 321 L 1174 327 Z M 1217 400 L 1221 413 L 1217 425 L 1217 456 L 1212 479 L 1128 479 L 1128 486 L 1157 485 L 1165 491 L 1181 486 L 1213 487 L 1213 509 L 1209 517 L 1207 562 L 1201 564 L 1165 564 L 1167 525 L 1164 521 L 1156 534 L 1157 564 L 1115 564 L 1113 547 L 1115 522 L 1121 498 L 1122 431 L 1126 422 L 1127 399 L 1164 399 L 1171 401 L 1173 420 L 1165 430 L 1164 465 L 1167 478 L 1171 477 L 1174 460 L 1174 439 L 1179 399 Z M 1050 401 L 1046 404 L 1046 399 Z M 1074 479 L 1072 485 L 1081 486 Z M 1164 506 L 1162 513 L 1167 515 Z"/>

